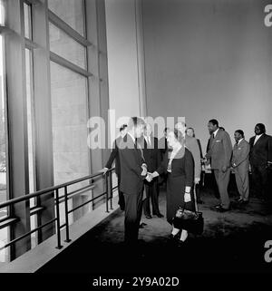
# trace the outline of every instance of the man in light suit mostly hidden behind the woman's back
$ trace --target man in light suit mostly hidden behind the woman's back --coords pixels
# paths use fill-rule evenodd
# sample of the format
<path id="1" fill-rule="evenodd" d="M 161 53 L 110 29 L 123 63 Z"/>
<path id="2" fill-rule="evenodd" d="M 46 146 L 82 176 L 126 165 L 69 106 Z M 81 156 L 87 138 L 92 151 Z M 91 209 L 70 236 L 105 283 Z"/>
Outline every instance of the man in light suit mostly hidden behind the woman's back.
<path id="1" fill-rule="evenodd" d="M 185 146 L 191 152 L 194 162 L 195 162 L 195 184 L 199 184 L 200 174 L 201 174 L 201 158 L 200 158 L 200 150 L 199 143 L 196 138 L 190 137 L 186 133 L 186 124 L 185 122 L 178 122 L 175 125 L 175 128 L 179 130 L 185 139 Z"/>

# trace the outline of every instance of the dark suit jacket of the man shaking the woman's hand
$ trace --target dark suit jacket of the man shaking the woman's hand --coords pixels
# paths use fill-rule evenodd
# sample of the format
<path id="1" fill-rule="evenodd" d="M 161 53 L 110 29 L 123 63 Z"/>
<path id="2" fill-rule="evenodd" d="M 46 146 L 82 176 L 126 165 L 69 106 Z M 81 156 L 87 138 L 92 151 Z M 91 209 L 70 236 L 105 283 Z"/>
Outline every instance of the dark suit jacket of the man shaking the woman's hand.
<path id="1" fill-rule="evenodd" d="M 131 195 L 141 193 L 144 176 L 141 176 L 141 165 L 145 163 L 141 150 L 136 146 L 129 134 L 126 134 L 119 146 L 121 166 L 120 189 Z"/>

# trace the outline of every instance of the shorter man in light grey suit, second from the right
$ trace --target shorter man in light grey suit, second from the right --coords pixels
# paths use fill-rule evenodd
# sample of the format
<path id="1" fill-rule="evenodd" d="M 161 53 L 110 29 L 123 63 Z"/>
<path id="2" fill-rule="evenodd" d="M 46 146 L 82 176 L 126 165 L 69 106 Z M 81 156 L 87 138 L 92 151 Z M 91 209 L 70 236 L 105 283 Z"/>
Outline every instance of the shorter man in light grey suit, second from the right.
<path id="1" fill-rule="evenodd" d="M 235 172 L 236 184 L 239 192 L 238 202 L 248 204 L 249 197 L 249 143 L 245 140 L 244 131 L 234 132 L 236 141 L 232 150 L 231 166 Z"/>

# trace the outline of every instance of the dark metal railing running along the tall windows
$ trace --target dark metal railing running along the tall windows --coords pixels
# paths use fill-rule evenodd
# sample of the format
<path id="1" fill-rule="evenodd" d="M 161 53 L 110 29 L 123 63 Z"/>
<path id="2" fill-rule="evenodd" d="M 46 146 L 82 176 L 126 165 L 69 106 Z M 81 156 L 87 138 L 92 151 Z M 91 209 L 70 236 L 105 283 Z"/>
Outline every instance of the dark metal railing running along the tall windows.
<path id="1" fill-rule="evenodd" d="M 22 201 L 29 201 L 29 203 L 30 203 L 30 199 L 42 197 L 43 195 L 48 194 L 48 193 L 54 194 L 54 201 L 55 201 L 55 203 L 54 203 L 55 218 L 47 221 L 43 225 L 40 225 L 34 229 L 31 229 L 30 231 L 26 232 L 24 235 L 9 241 L 8 243 L 5 244 L 5 246 L 1 247 L 0 250 L 4 249 L 5 247 L 10 247 L 10 246 L 14 245 L 17 241 L 30 236 L 32 233 L 34 233 L 34 232 L 52 224 L 52 223 L 56 224 L 56 238 L 57 238 L 56 248 L 62 248 L 63 247 L 62 243 L 61 243 L 62 242 L 62 238 L 61 238 L 61 229 L 62 228 L 65 228 L 65 240 L 64 241 L 65 242 L 71 241 L 70 232 L 69 232 L 69 230 L 70 230 L 69 229 L 69 214 L 70 213 L 73 213 L 73 211 L 80 209 L 83 206 L 91 203 L 92 201 L 99 199 L 99 198 L 102 198 L 102 197 L 105 198 L 105 207 L 106 207 L 105 210 L 106 210 L 106 212 L 110 212 L 109 207 L 110 207 L 110 209 L 112 209 L 112 193 L 113 193 L 113 190 L 117 188 L 117 186 L 112 188 L 112 171 L 113 170 L 114 170 L 114 168 L 112 168 L 111 170 L 108 170 L 105 174 L 103 174 L 102 172 L 98 172 L 96 174 L 83 177 L 81 179 L 74 179 L 73 181 L 66 182 L 66 183 L 63 183 L 63 184 L 58 185 L 58 186 L 54 186 L 54 187 L 47 188 L 47 189 L 42 189 L 42 190 L 36 191 L 34 193 L 24 195 L 24 196 L 19 197 L 19 198 L 9 199 L 9 200 L 6 200 L 5 202 L 0 203 L 0 209 L 6 208 L 6 207 L 11 208 L 16 203 L 19 203 Z M 73 209 L 68 209 L 68 200 L 72 199 L 73 196 L 77 195 L 79 192 L 85 191 L 87 189 L 93 189 L 95 187 L 95 184 L 93 184 L 93 179 L 95 179 L 95 178 L 102 178 L 104 181 L 104 185 L 105 185 L 104 189 L 105 190 L 102 192 L 102 194 L 95 196 L 92 199 L 88 199 L 87 201 L 85 201 L 84 203 L 80 204 L 79 206 L 77 206 Z M 90 185 L 84 186 L 81 189 L 76 189 L 73 192 L 68 193 L 69 186 L 77 184 L 79 182 L 83 182 L 85 180 L 89 180 Z M 59 195 L 60 189 L 64 189 L 63 196 Z M 65 222 L 63 223 L 63 225 L 61 225 L 60 203 L 63 203 L 63 202 L 64 202 L 64 220 L 65 220 Z M 110 206 L 109 206 L 109 202 L 110 202 Z M 30 209 L 30 216 L 37 214 L 43 210 L 44 210 L 44 207 L 37 205 L 37 206 Z M 15 224 L 19 221 L 20 221 L 20 218 L 13 217 L 13 216 L 7 216 L 3 219 L 0 219 L 0 229 L 9 227 L 12 224 Z"/>

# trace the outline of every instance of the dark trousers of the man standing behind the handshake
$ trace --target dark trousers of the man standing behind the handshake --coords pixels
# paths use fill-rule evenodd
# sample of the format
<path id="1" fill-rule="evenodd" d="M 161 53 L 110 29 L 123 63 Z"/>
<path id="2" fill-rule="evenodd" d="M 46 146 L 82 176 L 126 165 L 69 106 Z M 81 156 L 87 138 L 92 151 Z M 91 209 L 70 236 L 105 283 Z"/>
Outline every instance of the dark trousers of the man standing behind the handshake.
<path id="1" fill-rule="evenodd" d="M 146 199 L 143 200 L 143 212 L 145 216 L 151 215 L 151 203 L 153 215 L 160 214 L 159 209 L 159 185 L 158 179 L 145 184 Z M 150 203 L 151 200 L 151 203 Z"/>

